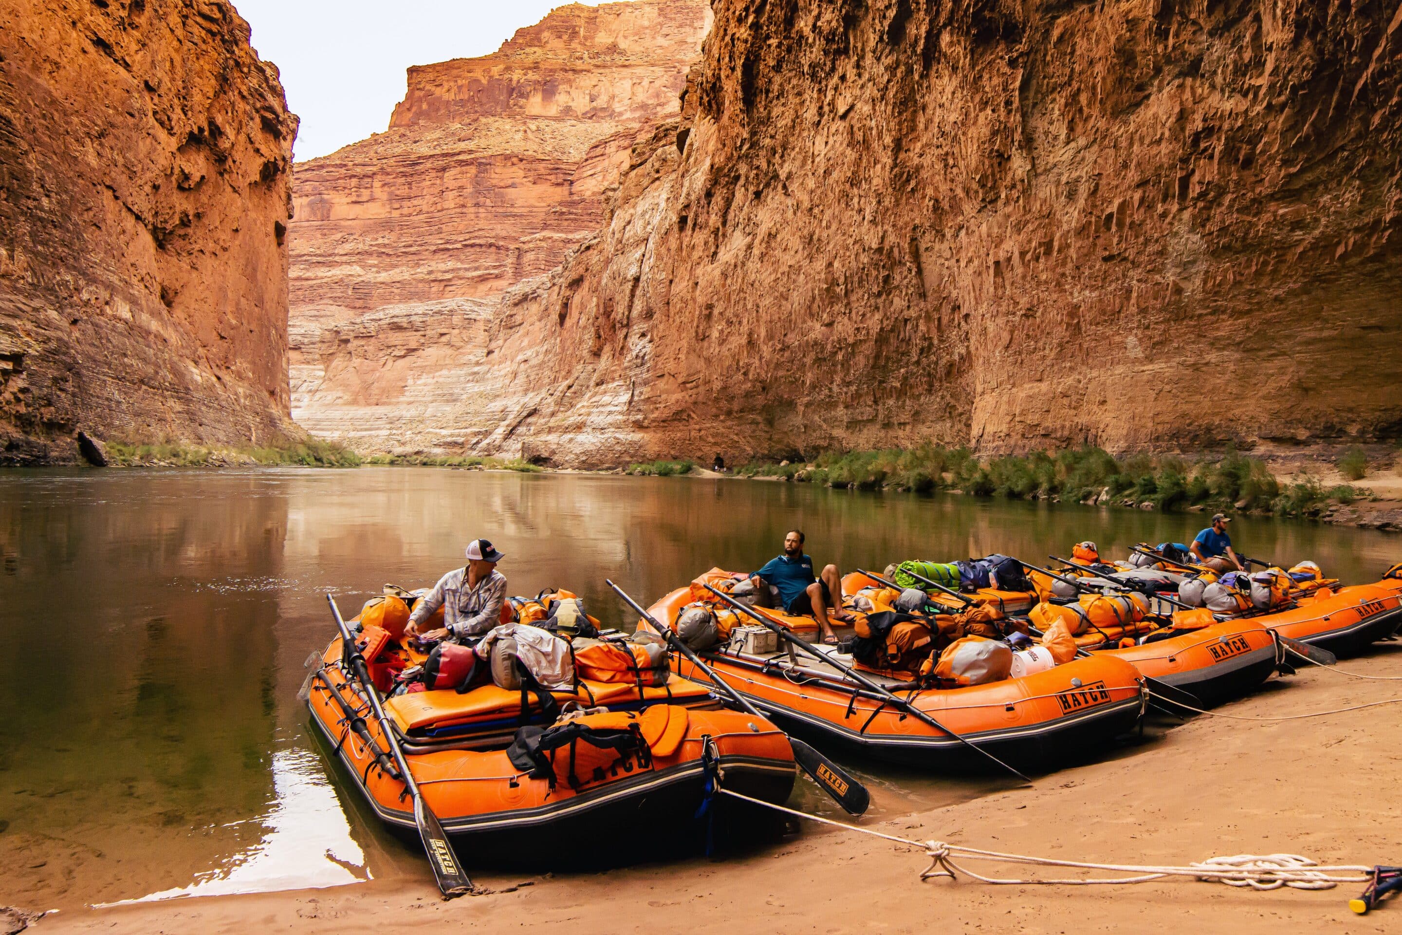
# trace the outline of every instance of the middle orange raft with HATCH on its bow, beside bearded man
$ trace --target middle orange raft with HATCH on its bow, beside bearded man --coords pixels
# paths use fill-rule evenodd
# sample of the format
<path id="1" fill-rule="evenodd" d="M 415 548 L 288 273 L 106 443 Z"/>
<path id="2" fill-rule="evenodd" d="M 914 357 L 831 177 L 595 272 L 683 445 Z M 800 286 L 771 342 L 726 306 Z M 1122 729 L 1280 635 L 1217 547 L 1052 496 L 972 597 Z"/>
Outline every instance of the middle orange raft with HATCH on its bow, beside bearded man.
<path id="1" fill-rule="evenodd" d="M 693 587 L 659 600 L 649 613 L 676 628 L 681 610 L 704 600 L 707 592 L 700 585 L 723 578 L 719 569 L 708 572 Z M 757 613 L 801 635 L 817 629 L 812 617 L 763 608 Z M 743 618 L 739 622 L 743 627 Z M 646 629 L 648 624 L 639 627 Z M 784 729 L 834 751 L 934 770 L 987 768 L 977 751 L 847 681 L 831 666 L 791 657 L 784 648 L 747 649 L 742 627 L 730 631 L 728 642 L 700 655 Z M 684 657 L 673 656 L 673 662 L 683 674 L 694 674 Z M 850 664 L 850 657 L 843 662 Z M 864 674 L 939 725 L 1026 770 L 1050 770 L 1129 733 L 1147 702 L 1134 666 L 1112 657 L 1077 659 L 1023 678 L 965 688 L 921 688 L 899 677 Z"/>

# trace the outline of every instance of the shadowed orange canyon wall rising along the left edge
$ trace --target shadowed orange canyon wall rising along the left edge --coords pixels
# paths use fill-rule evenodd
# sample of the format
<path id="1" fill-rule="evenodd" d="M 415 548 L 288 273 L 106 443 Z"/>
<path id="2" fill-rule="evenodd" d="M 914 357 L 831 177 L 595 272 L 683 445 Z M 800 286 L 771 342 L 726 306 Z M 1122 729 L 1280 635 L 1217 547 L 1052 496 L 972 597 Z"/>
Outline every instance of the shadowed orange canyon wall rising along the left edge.
<path id="1" fill-rule="evenodd" d="M 296 132 L 223 0 L 0 6 L 0 464 L 300 435 Z"/>

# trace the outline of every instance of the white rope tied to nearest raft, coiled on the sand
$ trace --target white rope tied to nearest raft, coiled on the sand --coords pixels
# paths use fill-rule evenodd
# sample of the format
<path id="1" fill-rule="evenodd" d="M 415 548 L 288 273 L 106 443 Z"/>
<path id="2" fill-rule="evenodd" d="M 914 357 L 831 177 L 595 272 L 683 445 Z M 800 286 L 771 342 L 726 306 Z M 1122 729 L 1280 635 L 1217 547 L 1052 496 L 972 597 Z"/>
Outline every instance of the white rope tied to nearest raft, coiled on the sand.
<path id="1" fill-rule="evenodd" d="M 857 831 L 859 834 L 868 834 L 885 841 L 894 841 L 896 844 L 921 848 L 925 855 L 930 856 L 930 866 L 920 873 L 920 879 L 923 880 L 934 876 L 948 876 L 953 880 L 958 879 L 959 873 L 963 873 L 965 876 L 976 879 L 981 883 L 993 883 L 997 886 L 1117 886 L 1124 883 L 1148 883 L 1150 880 L 1161 880 L 1169 876 L 1189 876 L 1197 880 L 1217 880 L 1220 883 L 1227 883 L 1228 886 L 1242 886 L 1256 890 L 1274 890 L 1281 886 L 1290 886 L 1300 890 L 1326 890 L 1338 886 L 1339 883 L 1364 883 L 1373 879 L 1371 866 L 1352 864 L 1321 866 L 1309 858 L 1300 856 L 1298 854 L 1238 854 L 1235 856 L 1214 856 L 1209 861 L 1190 864 L 1187 866 L 1159 866 L 1134 864 L 1087 864 L 1080 861 L 1057 861 L 1044 856 L 1026 856 L 1022 854 L 1004 854 L 1001 851 L 981 851 L 979 848 L 948 844 L 945 841 L 913 841 L 894 834 L 885 834 L 872 828 L 864 828 L 857 824 L 834 821 L 833 819 L 824 819 L 820 814 L 809 814 L 808 812 L 799 812 L 782 805 L 774 805 L 773 802 L 732 792 L 721 788 L 719 785 L 716 786 L 716 792 L 743 802 L 750 802 L 751 805 L 761 805 L 767 809 L 774 809 L 775 812 L 784 812 L 785 814 L 808 819 L 809 821 L 830 824 L 836 828 L 843 828 L 844 831 Z M 1120 876 L 1112 879 L 1009 879 L 974 873 L 969 868 L 956 864 L 955 858 L 962 861 L 1026 864 L 1030 866 L 1070 866 L 1084 871 L 1134 873 L 1134 876 Z"/>

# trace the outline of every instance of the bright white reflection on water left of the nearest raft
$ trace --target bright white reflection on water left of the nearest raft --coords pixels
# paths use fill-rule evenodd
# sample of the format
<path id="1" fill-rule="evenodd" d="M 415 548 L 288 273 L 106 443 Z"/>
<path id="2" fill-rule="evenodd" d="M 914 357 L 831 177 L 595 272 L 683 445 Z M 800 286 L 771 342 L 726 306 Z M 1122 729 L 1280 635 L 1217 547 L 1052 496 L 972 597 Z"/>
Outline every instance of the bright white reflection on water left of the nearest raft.
<path id="1" fill-rule="evenodd" d="M 350 838 L 336 795 L 325 782 L 320 758 L 310 751 L 272 757 L 276 799 L 266 814 L 245 819 L 262 838 L 245 851 L 177 886 L 122 903 L 150 903 L 178 896 L 226 896 L 269 890 L 320 889 L 370 879 L 365 852 Z M 116 906 L 121 903 L 108 903 Z"/>

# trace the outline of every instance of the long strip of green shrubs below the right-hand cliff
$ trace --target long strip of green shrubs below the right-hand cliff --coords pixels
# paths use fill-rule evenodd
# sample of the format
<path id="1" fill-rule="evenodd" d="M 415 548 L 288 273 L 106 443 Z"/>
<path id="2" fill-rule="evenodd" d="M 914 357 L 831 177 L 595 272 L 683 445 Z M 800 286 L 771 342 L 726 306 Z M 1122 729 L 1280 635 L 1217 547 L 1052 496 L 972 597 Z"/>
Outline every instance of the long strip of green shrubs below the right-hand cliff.
<path id="1" fill-rule="evenodd" d="M 1159 510 L 1238 509 L 1280 516 L 1319 516 L 1361 492 L 1318 481 L 1280 484 L 1258 458 L 1228 450 L 1196 460 L 1136 454 L 1116 458 L 1096 447 L 1028 456 L 976 457 L 967 449 L 918 449 L 822 454 L 808 463 L 751 463 L 740 477 L 782 477 L 864 491 L 958 491 L 1009 499 L 1116 503 Z"/>

